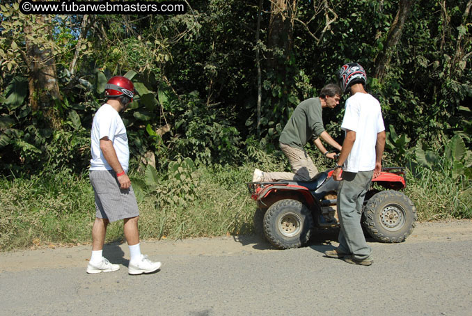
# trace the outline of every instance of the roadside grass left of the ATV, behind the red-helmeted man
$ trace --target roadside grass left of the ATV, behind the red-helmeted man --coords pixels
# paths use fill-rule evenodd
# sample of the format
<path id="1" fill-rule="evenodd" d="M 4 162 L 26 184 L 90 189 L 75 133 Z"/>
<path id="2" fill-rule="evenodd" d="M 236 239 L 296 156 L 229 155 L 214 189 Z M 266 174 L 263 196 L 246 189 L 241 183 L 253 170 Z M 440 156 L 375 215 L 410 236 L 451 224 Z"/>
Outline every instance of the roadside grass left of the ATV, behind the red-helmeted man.
<path id="1" fill-rule="evenodd" d="M 139 198 L 141 238 L 251 233 L 254 204 L 244 182 L 250 180 L 252 170 L 199 169 L 193 200 L 168 203 L 166 196 L 152 193 Z M 56 171 L 31 180 L 3 178 L 0 183 L 0 251 L 91 242 L 95 205 L 88 175 Z M 123 221 L 111 223 L 107 242 L 121 240 Z"/>

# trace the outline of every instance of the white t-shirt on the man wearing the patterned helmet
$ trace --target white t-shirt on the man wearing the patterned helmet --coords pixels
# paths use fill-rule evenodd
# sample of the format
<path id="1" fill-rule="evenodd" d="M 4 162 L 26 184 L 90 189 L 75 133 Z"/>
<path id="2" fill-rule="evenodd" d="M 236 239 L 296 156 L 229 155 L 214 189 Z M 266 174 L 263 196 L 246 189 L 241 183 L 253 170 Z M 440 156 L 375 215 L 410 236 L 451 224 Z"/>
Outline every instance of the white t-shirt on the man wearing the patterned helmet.
<path id="1" fill-rule="evenodd" d="M 349 97 L 341 129 L 356 132 L 356 141 L 344 163 L 344 170 L 353 173 L 374 170 L 377 133 L 385 130 L 379 101 L 368 93 Z"/>

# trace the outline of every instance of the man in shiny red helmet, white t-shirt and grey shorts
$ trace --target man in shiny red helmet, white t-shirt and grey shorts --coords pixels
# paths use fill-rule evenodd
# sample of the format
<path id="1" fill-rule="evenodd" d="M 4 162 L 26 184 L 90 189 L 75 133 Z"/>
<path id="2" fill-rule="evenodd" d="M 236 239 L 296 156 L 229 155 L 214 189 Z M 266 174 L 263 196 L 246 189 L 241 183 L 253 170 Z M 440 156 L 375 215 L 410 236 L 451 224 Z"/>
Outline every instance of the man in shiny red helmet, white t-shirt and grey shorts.
<path id="1" fill-rule="evenodd" d="M 129 246 L 129 274 L 157 271 L 161 262 L 152 262 L 141 253 L 139 245 L 139 210 L 131 181 L 127 175 L 129 148 L 126 128 L 120 111 L 132 102 L 134 85 L 125 77 L 113 77 L 105 86 L 107 103 L 93 118 L 91 132 L 90 180 L 95 193 L 95 222 L 92 228 L 92 256 L 87 273 L 97 274 L 120 269 L 103 257 L 103 244 L 109 222 L 123 219 Z"/>

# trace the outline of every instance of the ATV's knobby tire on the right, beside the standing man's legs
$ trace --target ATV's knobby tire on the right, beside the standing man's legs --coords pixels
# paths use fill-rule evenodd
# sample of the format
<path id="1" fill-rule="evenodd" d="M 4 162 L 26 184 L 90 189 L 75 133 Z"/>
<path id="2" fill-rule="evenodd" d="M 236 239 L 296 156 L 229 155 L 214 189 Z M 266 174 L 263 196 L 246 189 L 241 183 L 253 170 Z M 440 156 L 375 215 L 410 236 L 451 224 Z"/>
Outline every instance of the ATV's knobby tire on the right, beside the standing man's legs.
<path id="1" fill-rule="evenodd" d="M 379 242 L 403 242 L 416 226 L 416 208 L 398 191 L 380 191 L 365 204 L 363 226 Z"/>

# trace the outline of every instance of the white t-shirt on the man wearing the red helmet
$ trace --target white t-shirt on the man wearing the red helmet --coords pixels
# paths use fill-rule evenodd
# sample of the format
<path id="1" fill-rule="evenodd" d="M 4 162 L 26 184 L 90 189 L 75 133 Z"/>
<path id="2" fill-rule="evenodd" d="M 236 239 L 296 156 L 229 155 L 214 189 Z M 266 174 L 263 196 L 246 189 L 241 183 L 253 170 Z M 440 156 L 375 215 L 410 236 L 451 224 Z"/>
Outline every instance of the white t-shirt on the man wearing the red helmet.
<path id="1" fill-rule="evenodd" d="M 92 159 L 90 170 L 112 170 L 100 150 L 100 139 L 108 137 L 125 172 L 128 171 L 129 148 L 125 124 L 110 104 L 103 104 L 95 113 L 92 123 Z"/>

